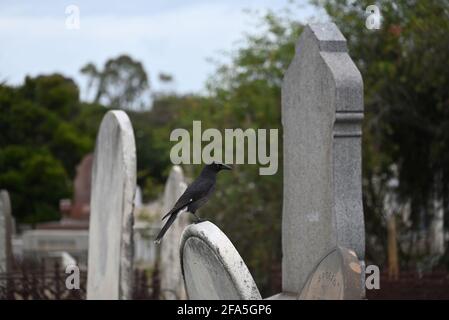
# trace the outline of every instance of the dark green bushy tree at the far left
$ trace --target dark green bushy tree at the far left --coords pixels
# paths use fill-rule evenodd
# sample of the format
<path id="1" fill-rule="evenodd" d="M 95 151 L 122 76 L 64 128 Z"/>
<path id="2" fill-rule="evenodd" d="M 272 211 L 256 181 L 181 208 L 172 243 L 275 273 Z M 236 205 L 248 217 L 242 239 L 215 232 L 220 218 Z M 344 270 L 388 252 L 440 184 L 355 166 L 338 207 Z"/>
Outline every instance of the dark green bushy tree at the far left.
<path id="1" fill-rule="evenodd" d="M 78 87 L 58 74 L 0 86 L 0 187 L 19 222 L 55 220 L 71 196 L 75 166 L 93 147 L 70 121 L 79 108 Z"/>

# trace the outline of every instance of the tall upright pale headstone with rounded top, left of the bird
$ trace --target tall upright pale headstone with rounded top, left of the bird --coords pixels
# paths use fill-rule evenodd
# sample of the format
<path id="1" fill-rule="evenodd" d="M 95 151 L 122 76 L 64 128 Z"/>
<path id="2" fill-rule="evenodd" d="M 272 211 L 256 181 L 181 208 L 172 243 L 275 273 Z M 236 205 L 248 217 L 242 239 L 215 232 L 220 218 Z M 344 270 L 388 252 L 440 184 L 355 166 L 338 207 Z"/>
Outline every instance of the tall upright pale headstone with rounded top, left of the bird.
<path id="1" fill-rule="evenodd" d="M 136 147 L 123 111 L 109 111 L 95 147 L 88 253 L 88 299 L 129 299 L 132 288 Z"/>

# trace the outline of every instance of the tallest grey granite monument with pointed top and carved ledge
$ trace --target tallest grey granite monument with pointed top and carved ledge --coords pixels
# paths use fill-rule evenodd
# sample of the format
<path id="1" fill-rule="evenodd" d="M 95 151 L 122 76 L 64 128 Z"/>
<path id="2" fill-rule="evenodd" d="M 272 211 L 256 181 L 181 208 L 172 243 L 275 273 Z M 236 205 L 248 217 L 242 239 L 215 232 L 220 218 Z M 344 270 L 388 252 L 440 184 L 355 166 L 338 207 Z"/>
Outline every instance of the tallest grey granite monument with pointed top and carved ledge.
<path id="1" fill-rule="evenodd" d="M 306 26 L 282 86 L 286 293 L 298 293 L 336 245 L 363 265 L 362 119 L 362 77 L 345 38 L 333 23 Z"/>

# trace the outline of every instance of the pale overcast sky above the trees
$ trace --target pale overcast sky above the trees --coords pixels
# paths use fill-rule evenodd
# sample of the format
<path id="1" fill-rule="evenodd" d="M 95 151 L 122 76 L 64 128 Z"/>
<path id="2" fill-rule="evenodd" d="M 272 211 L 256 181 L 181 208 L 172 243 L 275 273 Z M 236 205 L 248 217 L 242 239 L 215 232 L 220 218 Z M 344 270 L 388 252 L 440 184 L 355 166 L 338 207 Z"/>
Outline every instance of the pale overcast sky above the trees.
<path id="1" fill-rule="evenodd" d="M 307 4 L 298 20 L 322 15 Z M 201 92 L 214 70 L 207 58 L 235 48 L 243 32 L 254 31 L 245 9 L 281 9 L 287 0 L 0 1 L 0 80 L 20 84 L 25 75 L 60 72 L 83 89 L 79 69 L 103 66 L 126 53 L 143 62 L 151 85 L 159 72 L 175 77 L 180 93 Z M 302 3 L 304 3 L 302 5 Z M 68 5 L 80 10 L 80 29 L 66 28 Z M 84 90 L 82 90 L 83 93 Z"/>

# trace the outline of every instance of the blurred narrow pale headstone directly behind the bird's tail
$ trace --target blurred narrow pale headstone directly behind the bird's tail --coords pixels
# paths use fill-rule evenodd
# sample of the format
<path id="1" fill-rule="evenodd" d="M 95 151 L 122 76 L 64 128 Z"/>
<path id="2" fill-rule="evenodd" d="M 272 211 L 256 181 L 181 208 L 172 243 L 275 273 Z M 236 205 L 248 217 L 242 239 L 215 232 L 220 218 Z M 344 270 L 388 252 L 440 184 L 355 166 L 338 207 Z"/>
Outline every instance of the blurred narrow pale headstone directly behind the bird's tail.
<path id="1" fill-rule="evenodd" d="M 186 190 L 184 174 L 180 166 L 173 166 L 165 184 L 161 218 L 169 212 Z M 165 223 L 165 220 L 163 221 Z M 173 292 L 165 298 L 186 299 L 179 261 L 179 242 L 184 228 L 189 224 L 189 214 L 182 212 L 167 231 L 160 243 L 161 288 Z"/>

